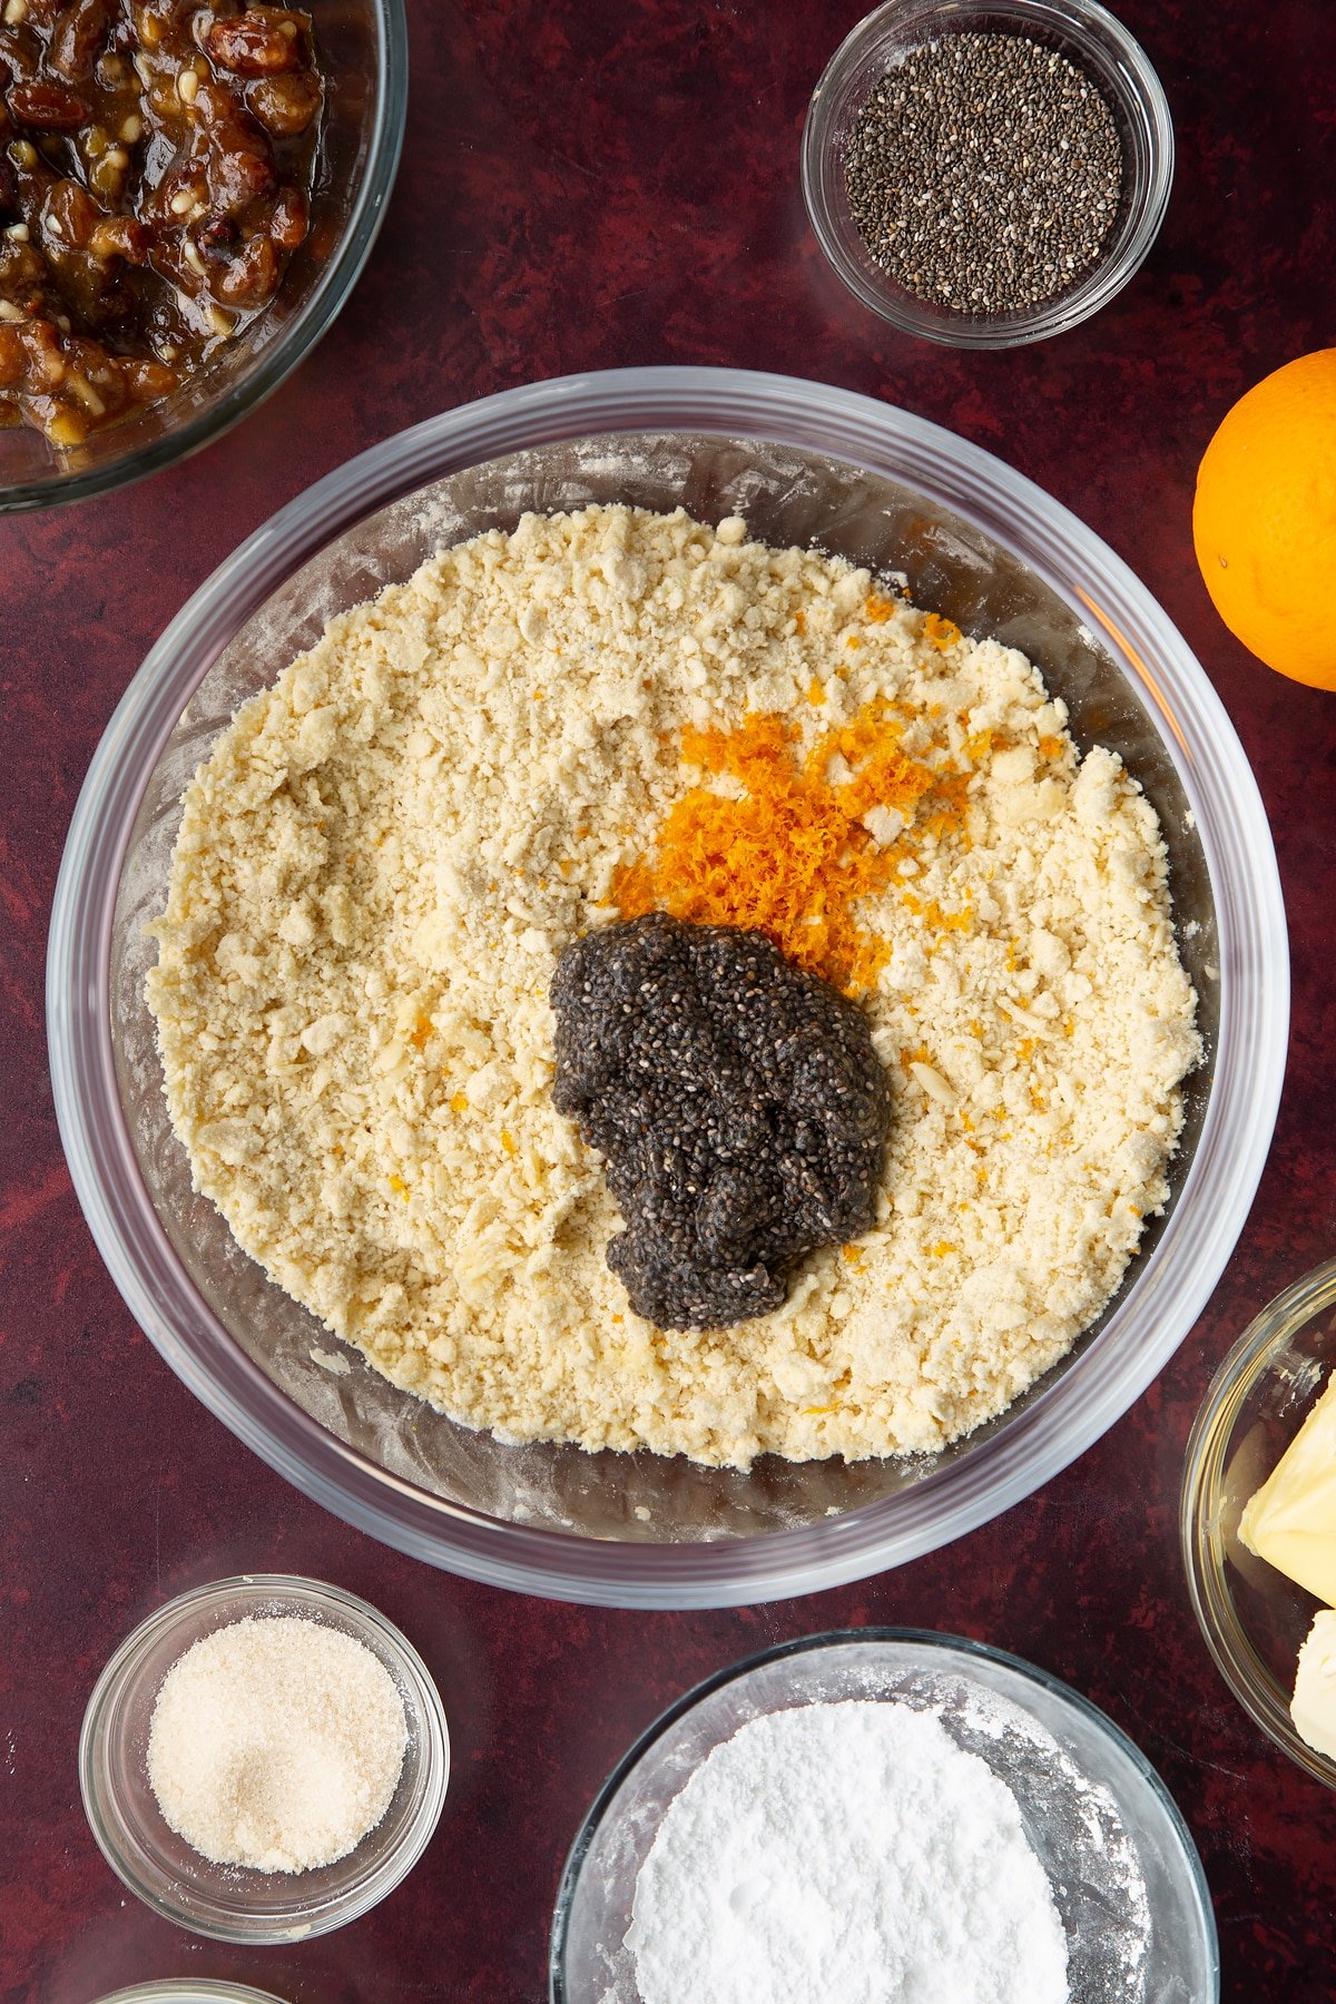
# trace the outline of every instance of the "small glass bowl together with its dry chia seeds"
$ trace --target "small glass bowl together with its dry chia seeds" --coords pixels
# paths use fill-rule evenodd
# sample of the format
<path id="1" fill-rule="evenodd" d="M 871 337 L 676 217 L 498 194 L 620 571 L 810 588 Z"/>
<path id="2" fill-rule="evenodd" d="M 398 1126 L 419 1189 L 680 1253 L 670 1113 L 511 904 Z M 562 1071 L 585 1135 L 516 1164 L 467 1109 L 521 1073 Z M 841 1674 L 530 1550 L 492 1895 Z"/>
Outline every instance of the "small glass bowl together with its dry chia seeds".
<path id="1" fill-rule="evenodd" d="M 835 50 L 803 132 L 835 273 L 949 347 L 1022 347 L 1098 313 L 1172 180 L 1160 78 L 1098 0 L 887 0 Z"/>

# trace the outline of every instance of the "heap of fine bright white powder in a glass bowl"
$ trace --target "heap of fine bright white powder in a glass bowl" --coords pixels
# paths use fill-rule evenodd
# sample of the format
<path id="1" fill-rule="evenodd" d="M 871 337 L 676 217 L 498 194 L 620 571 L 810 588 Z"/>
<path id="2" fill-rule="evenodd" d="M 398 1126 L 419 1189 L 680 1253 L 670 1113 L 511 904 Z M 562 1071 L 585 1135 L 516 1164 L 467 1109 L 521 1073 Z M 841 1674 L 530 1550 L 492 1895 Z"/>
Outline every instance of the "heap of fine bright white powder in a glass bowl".
<path id="1" fill-rule="evenodd" d="M 675 1798 L 627 1934 L 645 2004 L 1068 2004 L 1016 1798 L 899 1703 L 777 1711 Z"/>

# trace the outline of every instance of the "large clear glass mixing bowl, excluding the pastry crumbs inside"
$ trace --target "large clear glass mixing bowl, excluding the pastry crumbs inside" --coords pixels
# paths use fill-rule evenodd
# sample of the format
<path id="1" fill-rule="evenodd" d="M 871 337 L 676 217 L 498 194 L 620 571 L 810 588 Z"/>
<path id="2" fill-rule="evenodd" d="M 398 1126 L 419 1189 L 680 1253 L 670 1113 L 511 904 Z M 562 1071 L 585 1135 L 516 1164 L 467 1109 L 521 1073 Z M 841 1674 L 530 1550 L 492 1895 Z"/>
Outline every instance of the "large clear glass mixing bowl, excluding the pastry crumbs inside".
<path id="1" fill-rule="evenodd" d="M 1206 1062 L 1170 1198 L 1074 1349 L 939 1453 L 705 1467 L 515 1443 L 375 1373 L 190 1184 L 144 978 L 182 788 L 326 619 L 525 511 L 683 505 L 771 547 L 899 573 L 921 607 L 1040 663 L 1078 747 L 1118 752 L 1170 854 Z M 284 507 L 130 683 L 74 814 L 48 956 L 60 1130 L 98 1248 L 166 1363 L 306 1495 L 429 1563 L 611 1605 L 779 1599 L 973 1529 L 1074 1461 L 1202 1313 L 1256 1190 L 1284 1070 L 1288 952 L 1256 782 L 1210 679 L 1128 567 L 997 459 L 883 403 L 727 369 L 529 385 L 375 447 Z"/>

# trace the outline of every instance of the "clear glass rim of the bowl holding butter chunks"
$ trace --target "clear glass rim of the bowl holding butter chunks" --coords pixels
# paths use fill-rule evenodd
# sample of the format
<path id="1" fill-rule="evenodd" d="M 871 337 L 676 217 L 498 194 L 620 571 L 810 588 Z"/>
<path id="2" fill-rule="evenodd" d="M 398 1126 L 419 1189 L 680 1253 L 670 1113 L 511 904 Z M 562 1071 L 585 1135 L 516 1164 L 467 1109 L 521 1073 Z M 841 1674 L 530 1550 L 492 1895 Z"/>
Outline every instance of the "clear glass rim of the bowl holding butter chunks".
<path id="1" fill-rule="evenodd" d="M 1230 1693 L 1252 1723 L 1304 1774 L 1322 1782 L 1324 1788 L 1336 1790 L 1336 1760 L 1328 1760 L 1326 1754 L 1318 1754 L 1316 1747 L 1300 1739 L 1290 1719 L 1290 1697 L 1252 1647 L 1252 1639 L 1238 1619 L 1228 1587 L 1216 1509 L 1234 1425 L 1248 1393 L 1270 1369 L 1276 1353 L 1332 1305 L 1336 1305 L 1336 1259 L 1322 1261 L 1282 1289 L 1254 1315 L 1248 1329 L 1230 1347 L 1188 1435 L 1178 1531 L 1192 1611 Z M 1284 1575 L 1276 1573 L 1276 1577 Z M 1296 1591 L 1302 1589 L 1296 1587 Z"/>

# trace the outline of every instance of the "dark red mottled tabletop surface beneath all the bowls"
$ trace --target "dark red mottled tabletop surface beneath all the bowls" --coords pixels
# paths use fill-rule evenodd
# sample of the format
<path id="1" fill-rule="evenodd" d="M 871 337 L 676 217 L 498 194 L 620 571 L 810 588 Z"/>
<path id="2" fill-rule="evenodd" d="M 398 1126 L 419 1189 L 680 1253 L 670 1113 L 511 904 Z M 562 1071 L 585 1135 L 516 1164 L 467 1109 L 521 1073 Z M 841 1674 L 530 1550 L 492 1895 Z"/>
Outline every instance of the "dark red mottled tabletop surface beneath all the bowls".
<path id="1" fill-rule="evenodd" d="M 1334 1248 L 1336 695 L 1282 681 L 1230 639 L 1188 519 L 1222 411 L 1336 339 L 1336 10 L 1126 0 L 1178 126 L 1168 222 L 1100 319 L 1010 355 L 901 339 L 821 265 L 799 130 L 857 12 L 857 0 L 415 0 L 399 188 L 322 349 L 260 419 L 188 465 L 0 523 L 4 2004 L 90 2004 L 192 1972 L 302 2004 L 531 2004 L 545 1996 L 565 1848 L 627 1739 L 745 1651 L 865 1621 L 987 1637 L 1094 1697 L 1156 1762 L 1202 1848 L 1228 2004 L 1336 1994 L 1336 1798 L 1226 1695 L 1176 1543 L 1184 1441 L 1214 1363 Z M 747 1613 L 601 1613 L 465 1585 L 270 1475 L 180 1389 L 102 1271 L 60 1154 L 40 1012 L 84 768 L 186 593 L 278 503 L 385 433 L 533 377 L 649 361 L 779 369 L 901 403 L 1108 537 L 1242 733 L 1276 832 L 1296 976 L 1290 1078 L 1252 1220 L 1140 1405 L 951 1551 Z M 124 1896 L 74 1772 L 88 1687 L 120 1635 L 168 1593 L 242 1567 L 377 1599 L 435 1669 L 457 1749 L 445 1822 L 413 1878 L 337 1936 L 262 1952 L 192 1942 Z"/>

